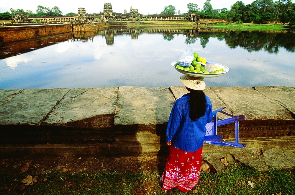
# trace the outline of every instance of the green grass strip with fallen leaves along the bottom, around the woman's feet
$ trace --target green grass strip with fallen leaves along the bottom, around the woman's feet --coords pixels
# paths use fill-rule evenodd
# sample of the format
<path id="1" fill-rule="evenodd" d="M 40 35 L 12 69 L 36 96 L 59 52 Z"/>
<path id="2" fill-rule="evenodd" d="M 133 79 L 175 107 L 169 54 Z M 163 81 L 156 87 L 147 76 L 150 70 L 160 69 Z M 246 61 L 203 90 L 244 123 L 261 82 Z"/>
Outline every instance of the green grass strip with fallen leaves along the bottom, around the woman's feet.
<path id="1" fill-rule="evenodd" d="M 265 173 L 246 165 L 230 165 L 229 173 L 212 174 L 201 172 L 196 194 L 294 194 L 295 175 L 291 171 L 270 169 Z M 19 190 L 20 181 L 27 177 L 1 175 L 1 194 L 194 194 L 191 190 L 183 193 L 178 189 L 167 192 L 161 190 L 159 173 L 148 175 L 108 172 L 97 174 L 62 173 L 58 170 L 49 173 L 36 173 L 38 181 Z M 44 181 L 44 178 L 47 181 Z M 247 183 L 254 182 L 252 188 Z"/>

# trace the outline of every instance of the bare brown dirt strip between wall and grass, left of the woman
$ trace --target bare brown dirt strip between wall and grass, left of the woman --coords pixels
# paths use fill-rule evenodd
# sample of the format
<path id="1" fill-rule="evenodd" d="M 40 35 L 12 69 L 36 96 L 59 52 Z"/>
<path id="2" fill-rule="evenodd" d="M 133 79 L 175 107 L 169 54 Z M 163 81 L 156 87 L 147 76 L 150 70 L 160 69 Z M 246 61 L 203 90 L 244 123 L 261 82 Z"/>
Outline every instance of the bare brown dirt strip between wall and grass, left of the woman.
<path id="1" fill-rule="evenodd" d="M 95 156 L 58 156 L 38 155 L 33 157 L 0 157 L 0 175 L 18 173 L 27 174 L 61 170 L 73 173 L 101 173 L 104 171 L 144 172 L 158 170 L 162 172 L 166 157 L 95 157 Z"/>

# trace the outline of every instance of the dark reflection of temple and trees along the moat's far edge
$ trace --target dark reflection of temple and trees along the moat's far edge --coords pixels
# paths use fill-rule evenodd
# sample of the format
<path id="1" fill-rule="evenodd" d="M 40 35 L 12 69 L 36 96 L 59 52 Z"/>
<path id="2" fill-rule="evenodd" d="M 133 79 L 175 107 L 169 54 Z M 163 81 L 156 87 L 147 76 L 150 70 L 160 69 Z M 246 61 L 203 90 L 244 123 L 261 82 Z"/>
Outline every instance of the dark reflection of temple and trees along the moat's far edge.
<path id="1" fill-rule="evenodd" d="M 200 40 L 202 48 L 206 48 L 210 38 L 217 38 L 220 41 L 225 40 L 229 48 L 242 47 L 249 52 L 264 50 L 269 53 L 278 53 L 279 47 L 286 48 L 290 52 L 295 51 L 295 33 L 287 31 L 228 31 L 155 27 L 108 28 L 99 32 L 83 32 L 83 36 L 81 32 L 76 32 L 74 38 L 89 40 L 96 35 L 101 35 L 105 37 L 107 45 L 114 45 L 114 37 L 117 35 L 129 34 L 131 39 L 138 39 L 139 35 L 143 33 L 160 33 L 163 35 L 163 39 L 168 41 L 173 40 L 175 35 L 184 35 L 186 36 L 185 43 L 188 45 Z"/>

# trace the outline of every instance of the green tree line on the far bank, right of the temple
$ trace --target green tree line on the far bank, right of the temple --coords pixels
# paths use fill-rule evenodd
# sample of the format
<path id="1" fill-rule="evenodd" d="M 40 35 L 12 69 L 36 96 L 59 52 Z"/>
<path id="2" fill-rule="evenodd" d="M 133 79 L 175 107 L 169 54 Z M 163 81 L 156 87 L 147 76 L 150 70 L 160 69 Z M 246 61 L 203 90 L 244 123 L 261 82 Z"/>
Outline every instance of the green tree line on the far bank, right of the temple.
<path id="1" fill-rule="evenodd" d="M 245 5 L 237 1 L 228 10 L 227 8 L 213 9 L 211 0 L 206 0 L 201 9 L 198 4 L 187 4 L 188 13 L 200 14 L 202 19 L 226 19 L 229 22 L 239 23 L 264 23 L 268 21 L 280 21 L 284 24 L 291 22 L 295 25 L 295 4 L 291 0 L 255 0 Z M 181 14 L 176 12 L 173 5 L 165 6 L 161 14 Z"/>

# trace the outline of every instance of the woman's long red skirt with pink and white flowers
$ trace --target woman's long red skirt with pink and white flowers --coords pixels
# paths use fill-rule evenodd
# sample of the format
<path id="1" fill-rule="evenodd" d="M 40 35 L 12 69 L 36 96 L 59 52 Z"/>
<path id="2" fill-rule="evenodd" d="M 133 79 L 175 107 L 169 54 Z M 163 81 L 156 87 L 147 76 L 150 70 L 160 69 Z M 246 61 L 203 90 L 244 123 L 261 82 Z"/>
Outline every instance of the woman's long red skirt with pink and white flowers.
<path id="1" fill-rule="evenodd" d="M 203 147 L 196 152 L 185 152 L 171 145 L 165 170 L 160 178 L 162 190 L 178 188 L 188 192 L 193 189 L 200 176 L 202 151 Z"/>

